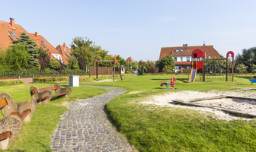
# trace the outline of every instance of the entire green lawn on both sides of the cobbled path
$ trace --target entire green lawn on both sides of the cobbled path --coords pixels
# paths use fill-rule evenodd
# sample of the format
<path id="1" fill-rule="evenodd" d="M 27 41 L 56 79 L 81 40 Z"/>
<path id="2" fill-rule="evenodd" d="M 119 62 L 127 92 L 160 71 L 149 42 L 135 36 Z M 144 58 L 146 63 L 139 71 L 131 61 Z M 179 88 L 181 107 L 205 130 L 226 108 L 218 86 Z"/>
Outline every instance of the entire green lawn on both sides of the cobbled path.
<path id="1" fill-rule="evenodd" d="M 161 82 L 169 82 L 172 77 L 177 78 L 175 90 L 160 87 Z M 130 144 L 139 151 L 256 151 L 255 120 L 219 121 L 193 109 L 139 103 L 149 100 L 152 95 L 171 91 L 232 91 L 235 90 L 233 87 L 256 88 L 255 84 L 251 85 L 248 81 L 250 76 L 235 77 L 235 82 L 206 79 L 206 82 L 196 81 L 189 84 L 188 79 L 189 75 L 124 76 L 123 81 L 85 81 L 80 84 L 122 87 L 128 91 L 107 103 L 107 115 L 117 129 L 126 135 Z M 53 84 L 34 85 L 40 88 Z M 19 84 L 0 87 L 0 90 L 10 93 L 15 102 L 21 102 L 30 99 L 29 87 L 30 84 Z M 67 110 L 66 106 L 61 106 L 62 103 L 72 103 L 76 99 L 104 92 L 106 90 L 98 87 L 73 87 L 69 100 L 59 98 L 52 100 L 50 105 L 38 106 L 31 122 L 24 123 L 20 135 L 8 151 L 50 151 L 50 135 L 56 128 L 60 115 Z"/>

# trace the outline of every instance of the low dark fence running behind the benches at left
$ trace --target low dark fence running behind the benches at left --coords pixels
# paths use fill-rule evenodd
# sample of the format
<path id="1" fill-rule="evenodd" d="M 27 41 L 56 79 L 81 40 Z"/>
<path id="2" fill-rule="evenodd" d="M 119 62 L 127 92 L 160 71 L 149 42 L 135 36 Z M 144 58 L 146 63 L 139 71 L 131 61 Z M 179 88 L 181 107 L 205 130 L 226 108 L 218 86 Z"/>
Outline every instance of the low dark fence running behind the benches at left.
<path id="1" fill-rule="evenodd" d="M 59 71 L 0 71 L 0 78 L 32 78 L 40 76 L 60 76 L 60 75 L 86 75 L 88 72 L 81 70 Z"/>

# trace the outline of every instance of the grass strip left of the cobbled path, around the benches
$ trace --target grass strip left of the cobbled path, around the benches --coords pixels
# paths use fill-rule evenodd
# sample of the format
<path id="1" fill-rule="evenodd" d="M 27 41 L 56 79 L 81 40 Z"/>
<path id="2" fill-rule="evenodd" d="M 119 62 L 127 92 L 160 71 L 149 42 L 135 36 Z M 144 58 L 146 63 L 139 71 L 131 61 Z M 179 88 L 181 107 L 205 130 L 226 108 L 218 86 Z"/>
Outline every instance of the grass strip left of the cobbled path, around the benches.
<path id="1" fill-rule="evenodd" d="M 14 102 L 19 103 L 31 99 L 31 85 L 38 88 L 53 86 L 53 84 L 20 84 L 0 87 L 0 92 L 10 93 Z M 49 105 L 38 105 L 30 122 L 23 123 L 20 134 L 7 151 L 51 151 L 50 135 L 56 129 L 60 116 L 67 110 L 67 107 L 62 106 L 62 104 L 73 103 L 78 99 L 94 97 L 106 92 L 107 90 L 101 87 L 72 87 L 69 99 L 65 97 L 53 98 Z M 3 118 L 2 114 L 0 118 Z"/>

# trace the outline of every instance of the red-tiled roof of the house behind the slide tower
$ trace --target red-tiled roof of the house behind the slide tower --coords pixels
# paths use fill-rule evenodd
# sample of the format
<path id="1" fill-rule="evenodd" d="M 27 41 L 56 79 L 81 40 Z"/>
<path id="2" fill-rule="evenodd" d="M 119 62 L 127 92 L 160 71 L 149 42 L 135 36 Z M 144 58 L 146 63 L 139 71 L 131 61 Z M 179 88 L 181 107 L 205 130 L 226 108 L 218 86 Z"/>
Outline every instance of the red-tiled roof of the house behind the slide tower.
<path id="1" fill-rule="evenodd" d="M 176 49 L 183 49 L 183 52 L 175 52 Z M 213 46 L 175 46 L 175 47 L 162 47 L 161 48 L 161 52 L 160 52 L 160 56 L 159 56 L 159 60 L 162 60 L 162 58 L 164 57 L 164 55 L 169 55 L 171 54 L 171 56 L 191 56 L 192 52 L 195 49 L 201 49 L 203 52 L 206 53 L 206 57 L 207 56 L 211 56 L 219 58 L 219 52 L 216 51 L 216 49 L 213 48 Z M 189 51 L 188 51 L 189 50 Z"/>

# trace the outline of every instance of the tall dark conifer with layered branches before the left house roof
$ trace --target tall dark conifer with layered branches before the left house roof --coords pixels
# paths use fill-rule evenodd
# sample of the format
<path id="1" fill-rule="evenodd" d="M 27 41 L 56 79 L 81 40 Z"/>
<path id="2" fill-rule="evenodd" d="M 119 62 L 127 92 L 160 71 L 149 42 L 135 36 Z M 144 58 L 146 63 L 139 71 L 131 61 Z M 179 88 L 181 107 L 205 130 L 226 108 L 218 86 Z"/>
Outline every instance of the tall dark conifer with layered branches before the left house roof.
<path id="1" fill-rule="evenodd" d="M 26 33 L 21 33 L 21 36 L 17 38 L 17 40 L 13 40 L 11 43 L 18 44 L 21 43 L 25 46 L 25 49 L 28 54 L 30 54 L 30 60 L 28 61 L 28 65 L 31 67 L 38 68 L 39 61 L 38 56 L 40 55 L 39 50 L 36 48 L 37 43 L 30 39 L 30 36 L 27 36 Z M 14 46 L 15 46 L 14 45 Z"/>

